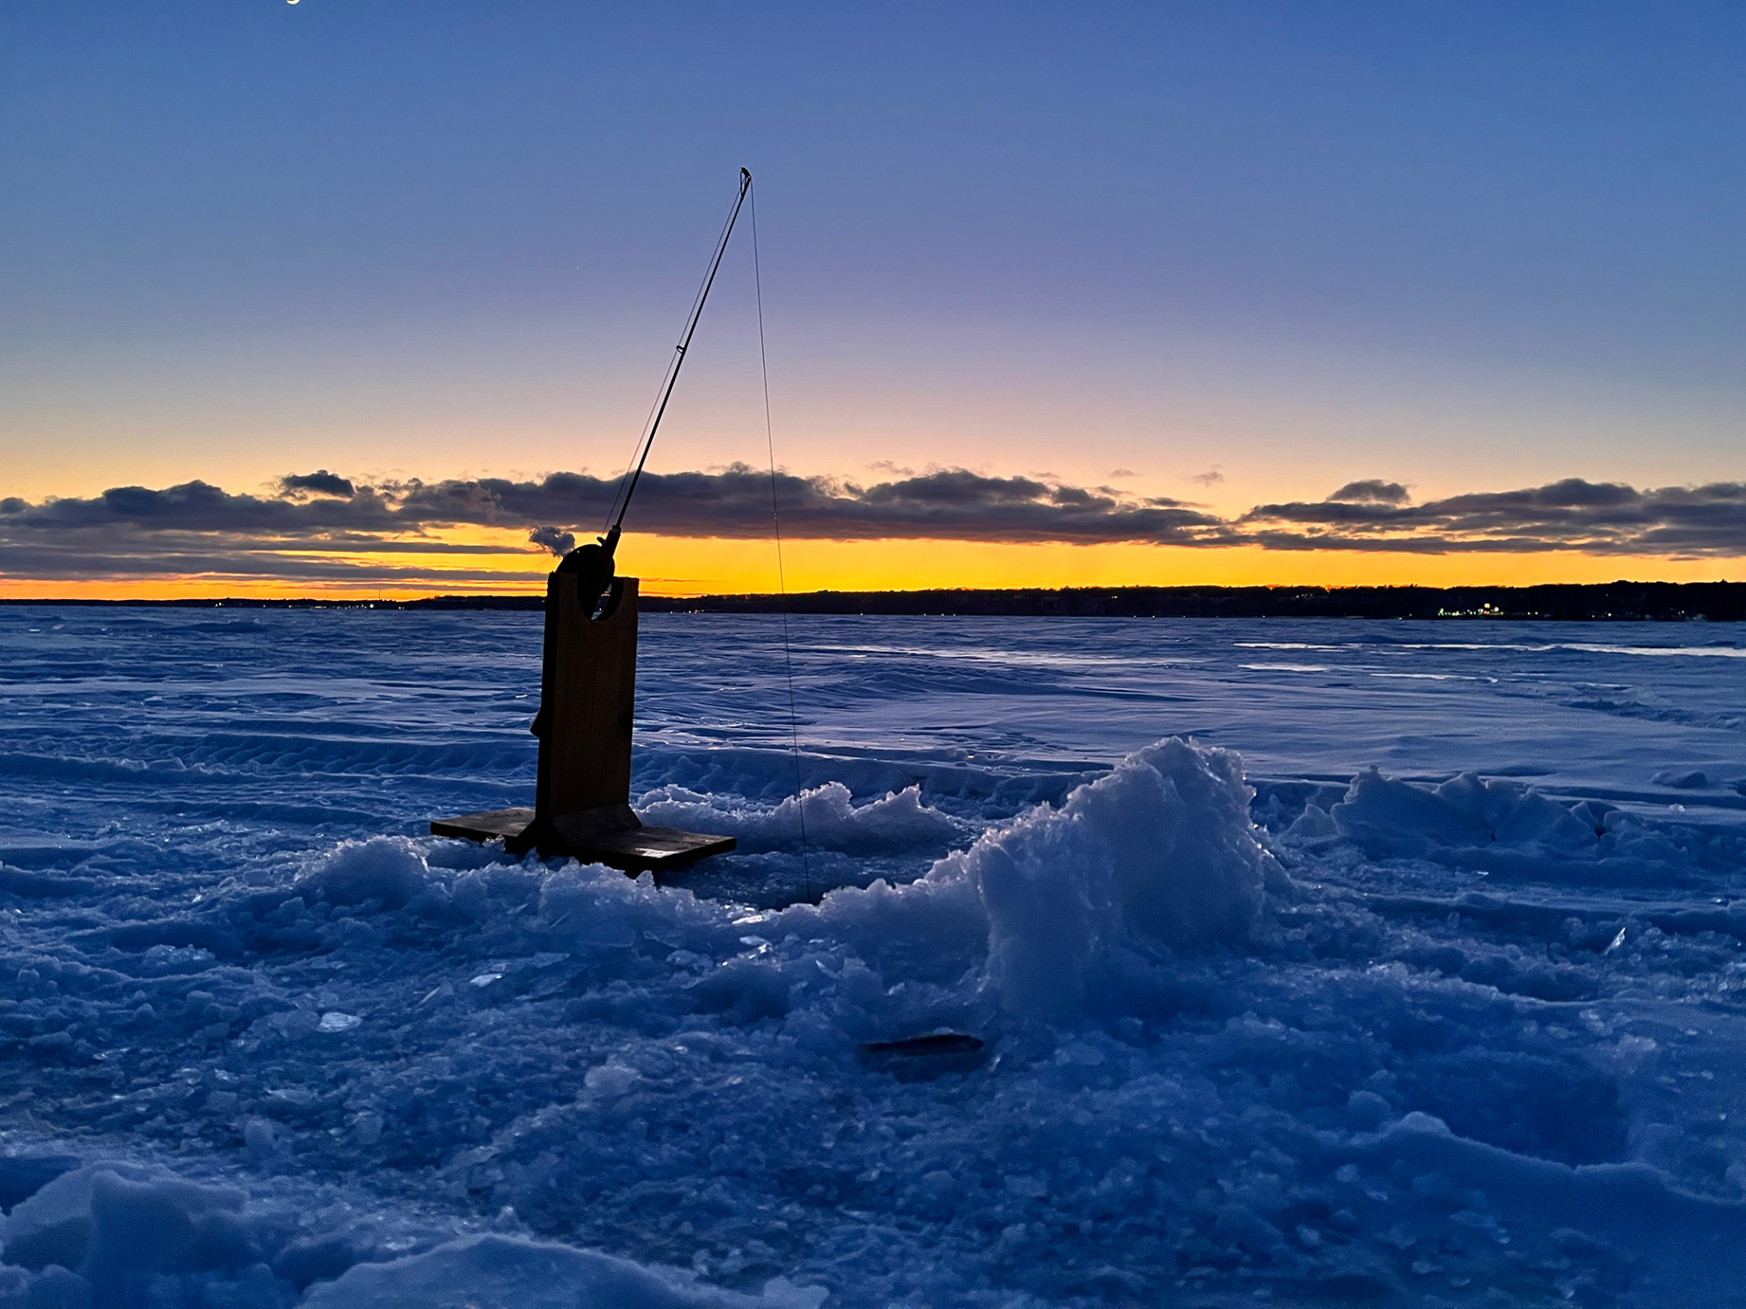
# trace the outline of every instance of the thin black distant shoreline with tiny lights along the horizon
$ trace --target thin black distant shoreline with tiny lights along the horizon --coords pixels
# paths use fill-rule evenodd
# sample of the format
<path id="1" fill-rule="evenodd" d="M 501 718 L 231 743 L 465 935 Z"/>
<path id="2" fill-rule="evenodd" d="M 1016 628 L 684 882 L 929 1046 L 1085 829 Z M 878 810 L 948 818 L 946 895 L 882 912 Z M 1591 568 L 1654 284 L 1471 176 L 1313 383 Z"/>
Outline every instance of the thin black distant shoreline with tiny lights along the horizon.
<path id="1" fill-rule="evenodd" d="M 540 611 L 543 595 L 435 595 L 423 600 L 0 599 L 0 606 L 159 609 Z M 1608 581 L 1547 586 L 1070 586 L 1062 590 L 798 592 L 643 597 L 644 613 L 878 614 L 936 618 L 1495 618 L 1543 621 L 1746 620 L 1741 581 Z"/>

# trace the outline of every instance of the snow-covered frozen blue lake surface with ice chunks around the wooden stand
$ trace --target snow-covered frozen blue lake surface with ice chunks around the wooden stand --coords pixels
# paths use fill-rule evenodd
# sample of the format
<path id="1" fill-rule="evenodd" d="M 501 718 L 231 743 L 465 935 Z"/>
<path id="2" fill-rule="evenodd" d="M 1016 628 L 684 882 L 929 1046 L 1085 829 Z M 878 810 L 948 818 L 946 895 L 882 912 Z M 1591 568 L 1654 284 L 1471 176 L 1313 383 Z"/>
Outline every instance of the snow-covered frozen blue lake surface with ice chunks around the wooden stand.
<path id="1" fill-rule="evenodd" d="M 0 609 L 0 1306 L 1746 1304 L 1746 632 L 538 621 Z"/>

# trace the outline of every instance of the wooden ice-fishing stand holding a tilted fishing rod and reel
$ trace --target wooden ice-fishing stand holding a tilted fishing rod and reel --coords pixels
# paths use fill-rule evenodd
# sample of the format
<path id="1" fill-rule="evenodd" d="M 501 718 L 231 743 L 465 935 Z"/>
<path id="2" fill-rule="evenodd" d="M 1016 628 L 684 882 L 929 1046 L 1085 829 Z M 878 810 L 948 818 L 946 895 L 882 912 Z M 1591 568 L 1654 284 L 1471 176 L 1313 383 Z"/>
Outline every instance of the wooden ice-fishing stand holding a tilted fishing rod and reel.
<path id="1" fill-rule="evenodd" d="M 733 848 L 732 836 L 650 827 L 630 808 L 630 731 L 637 686 L 637 579 L 615 576 L 613 555 L 636 494 L 655 431 L 684 365 L 684 353 L 704 314 L 709 288 L 740 216 L 753 175 L 740 169 L 733 201 L 709 272 L 691 304 L 684 335 L 639 442 L 637 457 L 620 478 L 608 511 L 606 534 L 578 546 L 546 578 L 545 651 L 540 663 L 540 771 L 533 808 L 487 810 L 438 819 L 436 836 L 471 841 L 503 840 L 510 853 L 573 855 L 627 873 L 681 867 Z M 616 511 L 616 517 L 615 517 Z"/>

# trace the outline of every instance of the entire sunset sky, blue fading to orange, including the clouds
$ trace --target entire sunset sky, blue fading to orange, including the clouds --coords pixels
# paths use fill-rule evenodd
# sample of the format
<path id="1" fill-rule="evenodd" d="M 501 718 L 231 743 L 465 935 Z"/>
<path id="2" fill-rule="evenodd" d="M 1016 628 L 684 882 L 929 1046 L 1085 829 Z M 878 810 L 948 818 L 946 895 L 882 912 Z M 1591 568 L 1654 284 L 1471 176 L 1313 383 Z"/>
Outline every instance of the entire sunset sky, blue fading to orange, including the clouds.
<path id="1" fill-rule="evenodd" d="M 1736 3 L 0 0 L 0 595 L 536 588 L 740 166 L 789 588 L 1746 576 Z"/>

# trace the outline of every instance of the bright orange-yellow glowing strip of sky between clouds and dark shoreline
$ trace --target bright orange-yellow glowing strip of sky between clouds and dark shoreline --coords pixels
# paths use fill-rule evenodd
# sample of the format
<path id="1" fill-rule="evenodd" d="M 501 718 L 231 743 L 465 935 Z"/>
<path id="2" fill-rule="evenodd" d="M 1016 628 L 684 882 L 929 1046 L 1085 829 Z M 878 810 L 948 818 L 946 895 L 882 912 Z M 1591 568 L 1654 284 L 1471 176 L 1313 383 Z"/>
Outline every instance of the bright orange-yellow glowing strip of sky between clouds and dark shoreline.
<path id="1" fill-rule="evenodd" d="M 391 567 L 391 579 L 262 578 L 192 574 L 152 579 L 80 581 L 0 578 L 3 599 L 353 599 L 405 600 L 428 595 L 538 595 L 550 555 L 499 543 L 480 532 L 478 545 L 503 553 L 328 555 L 327 564 Z M 526 538 L 522 538 L 526 539 Z M 1276 552 L 1259 546 L 1184 548 L 1119 545 L 1004 545 L 983 541 L 786 541 L 784 585 L 815 590 L 932 590 L 1004 586 L 1531 586 L 1596 581 L 1720 581 L 1746 572 L 1741 559 L 1666 559 L 1578 553 L 1414 555 L 1406 552 Z M 283 559 L 297 559 L 286 550 Z M 770 541 L 627 536 L 620 571 L 643 578 L 646 595 L 716 595 L 779 590 Z"/>

